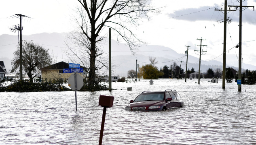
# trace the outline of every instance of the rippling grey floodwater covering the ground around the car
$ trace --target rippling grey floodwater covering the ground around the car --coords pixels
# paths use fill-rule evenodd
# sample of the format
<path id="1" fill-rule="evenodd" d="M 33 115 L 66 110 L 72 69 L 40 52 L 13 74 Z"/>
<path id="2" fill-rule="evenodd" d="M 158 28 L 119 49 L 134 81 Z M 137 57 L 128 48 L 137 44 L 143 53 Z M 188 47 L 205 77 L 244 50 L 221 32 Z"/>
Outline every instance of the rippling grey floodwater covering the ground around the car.
<path id="1" fill-rule="evenodd" d="M 112 92 L 0 93 L 0 144 L 97 145 L 103 108 L 99 95 L 114 96 L 106 112 L 104 145 L 256 144 L 256 86 L 188 79 L 112 83 Z M 132 91 L 127 91 L 132 87 Z M 176 89 L 183 108 L 133 112 L 124 108 L 142 91 Z M 246 92 L 245 92 L 246 89 Z"/>

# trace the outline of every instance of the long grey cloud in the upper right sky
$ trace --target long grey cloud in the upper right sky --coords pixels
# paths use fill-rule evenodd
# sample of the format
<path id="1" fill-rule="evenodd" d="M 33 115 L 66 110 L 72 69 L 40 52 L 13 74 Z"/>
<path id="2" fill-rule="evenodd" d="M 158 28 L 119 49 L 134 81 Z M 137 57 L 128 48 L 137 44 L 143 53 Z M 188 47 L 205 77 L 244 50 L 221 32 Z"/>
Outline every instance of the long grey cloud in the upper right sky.
<path id="1" fill-rule="evenodd" d="M 256 0 L 254 0 L 256 1 Z M 247 2 L 244 2 L 243 5 L 247 5 Z M 171 19 L 186 20 L 186 21 L 218 21 L 224 19 L 224 14 L 220 11 L 215 11 L 213 7 L 217 9 L 224 9 L 224 6 L 202 6 L 200 8 L 186 8 L 182 10 L 177 10 L 173 13 L 169 13 L 168 16 Z M 212 8 L 212 9 L 209 9 Z M 234 9 L 234 8 L 232 8 Z M 201 11 L 201 12 L 199 12 Z M 190 14 L 191 13 L 191 14 Z M 239 10 L 231 11 L 227 15 L 232 21 L 239 22 Z M 256 25 L 256 11 L 253 11 L 253 8 L 247 8 L 243 10 L 243 23 L 252 23 Z M 222 20 L 223 21 L 223 20 Z M 221 22 L 221 21 L 219 21 Z"/>

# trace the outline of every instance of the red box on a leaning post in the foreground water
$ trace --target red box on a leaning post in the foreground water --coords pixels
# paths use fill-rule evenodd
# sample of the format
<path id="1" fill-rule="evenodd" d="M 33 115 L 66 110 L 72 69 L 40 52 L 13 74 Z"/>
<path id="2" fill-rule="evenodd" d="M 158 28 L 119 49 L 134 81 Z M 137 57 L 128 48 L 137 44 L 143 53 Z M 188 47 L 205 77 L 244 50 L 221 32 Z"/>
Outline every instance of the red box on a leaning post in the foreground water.
<path id="1" fill-rule="evenodd" d="M 113 106 L 113 102 L 114 102 L 114 97 L 113 96 L 99 95 L 99 106 L 104 107 L 103 114 L 102 114 L 102 126 L 100 128 L 100 134 L 99 134 L 99 145 L 102 145 L 106 110 L 107 110 L 107 108 L 110 108 L 110 107 Z"/>

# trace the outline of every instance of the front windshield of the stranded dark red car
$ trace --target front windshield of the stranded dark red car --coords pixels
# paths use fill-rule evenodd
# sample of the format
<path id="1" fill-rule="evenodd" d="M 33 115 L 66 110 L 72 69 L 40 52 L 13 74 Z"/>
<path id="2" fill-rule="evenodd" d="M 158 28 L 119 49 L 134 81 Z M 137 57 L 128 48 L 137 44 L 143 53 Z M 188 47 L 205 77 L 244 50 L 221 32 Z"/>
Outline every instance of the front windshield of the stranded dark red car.
<path id="1" fill-rule="evenodd" d="M 140 101 L 151 101 L 151 100 L 163 100 L 164 93 L 155 92 L 155 93 L 142 93 L 140 94 L 134 102 Z"/>

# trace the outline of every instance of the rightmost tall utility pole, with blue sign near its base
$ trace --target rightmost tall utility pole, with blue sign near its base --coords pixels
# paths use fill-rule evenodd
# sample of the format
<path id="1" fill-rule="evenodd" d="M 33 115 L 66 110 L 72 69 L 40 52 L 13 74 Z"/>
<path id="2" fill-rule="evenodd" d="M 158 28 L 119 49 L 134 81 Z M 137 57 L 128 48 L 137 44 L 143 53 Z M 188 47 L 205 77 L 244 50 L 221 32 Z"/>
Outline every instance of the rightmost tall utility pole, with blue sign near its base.
<path id="1" fill-rule="evenodd" d="M 231 7 L 235 7 L 236 9 L 238 9 L 239 7 L 239 63 L 238 63 L 238 79 L 242 79 L 242 11 L 243 11 L 243 7 L 245 8 L 249 8 L 249 7 L 253 7 L 254 10 L 254 6 L 243 6 L 242 5 L 242 0 L 240 0 L 240 6 L 228 6 L 229 9 Z M 224 72 L 223 72 L 224 73 Z M 242 85 L 238 85 L 238 91 L 241 92 L 242 91 Z"/>

